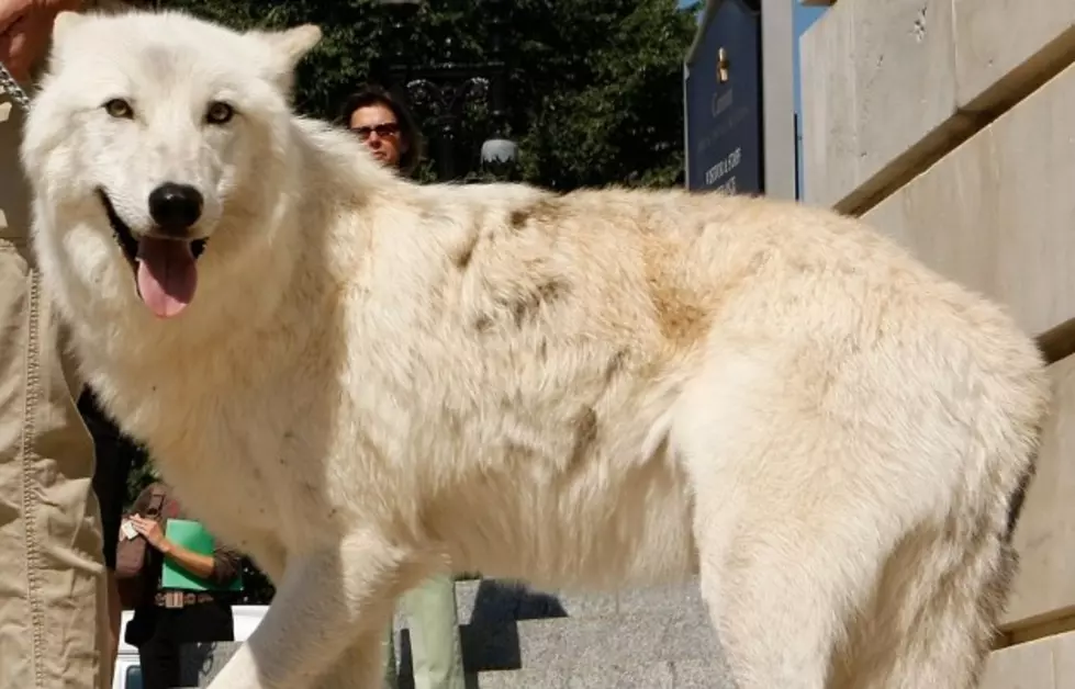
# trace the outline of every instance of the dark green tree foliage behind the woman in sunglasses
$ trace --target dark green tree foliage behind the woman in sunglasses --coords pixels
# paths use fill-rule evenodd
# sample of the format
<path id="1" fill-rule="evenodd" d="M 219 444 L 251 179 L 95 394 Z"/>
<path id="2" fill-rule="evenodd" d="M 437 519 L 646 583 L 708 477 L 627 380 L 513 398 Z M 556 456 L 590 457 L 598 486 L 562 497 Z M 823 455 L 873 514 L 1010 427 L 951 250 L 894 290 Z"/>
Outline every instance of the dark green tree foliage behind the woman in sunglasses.
<path id="1" fill-rule="evenodd" d="M 480 63 L 490 47 L 484 0 L 427 0 L 403 31 L 374 0 L 161 0 L 235 27 L 312 22 L 324 39 L 300 67 L 301 112 L 333 118 L 346 94 L 403 46 L 404 60 L 428 67 Z M 506 0 L 504 59 L 508 132 L 520 147 L 523 180 L 557 190 L 582 185 L 682 183 L 682 59 L 693 12 L 675 0 Z M 402 41 L 400 41 L 402 38 Z M 480 177 L 481 143 L 493 132 L 483 99 L 460 122 L 457 169 Z M 432 112 L 416 103 L 427 138 Z M 434 129 L 434 131 L 429 131 Z M 437 154 L 430 146 L 430 157 Z M 421 174 L 432 177 L 433 166 Z"/>

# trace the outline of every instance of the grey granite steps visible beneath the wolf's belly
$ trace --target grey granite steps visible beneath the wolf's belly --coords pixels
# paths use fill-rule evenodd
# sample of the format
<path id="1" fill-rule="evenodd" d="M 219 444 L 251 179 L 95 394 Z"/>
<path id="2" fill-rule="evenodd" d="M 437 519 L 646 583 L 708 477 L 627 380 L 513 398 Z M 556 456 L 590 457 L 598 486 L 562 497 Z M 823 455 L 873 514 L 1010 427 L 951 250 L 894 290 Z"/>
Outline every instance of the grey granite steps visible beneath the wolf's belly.
<path id="1" fill-rule="evenodd" d="M 714 669 L 724 668 L 724 656 L 696 581 L 580 596 L 474 579 L 457 581 L 456 597 L 469 689 L 530 687 L 530 681 L 572 689 L 730 686 L 714 679 L 726 676 Z M 407 625 L 401 606 L 395 618 L 400 689 L 413 686 Z M 183 658 L 184 685 L 205 686 L 235 647 L 192 645 Z M 642 677 L 653 679 L 632 684 Z M 690 677 L 701 684 L 684 684 Z M 504 684 L 513 681 L 523 684 Z M 661 684 L 667 681 L 674 685 Z"/>

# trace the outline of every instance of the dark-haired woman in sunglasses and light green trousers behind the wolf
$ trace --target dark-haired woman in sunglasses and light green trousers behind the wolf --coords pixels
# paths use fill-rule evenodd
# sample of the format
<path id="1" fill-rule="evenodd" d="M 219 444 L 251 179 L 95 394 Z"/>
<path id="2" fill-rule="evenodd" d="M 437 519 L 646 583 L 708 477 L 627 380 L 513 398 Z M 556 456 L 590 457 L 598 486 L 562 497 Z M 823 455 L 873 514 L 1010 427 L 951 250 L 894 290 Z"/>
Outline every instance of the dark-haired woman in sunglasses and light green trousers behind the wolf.
<path id="1" fill-rule="evenodd" d="M 414 173 L 422 158 L 422 136 L 411 111 L 395 95 L 367 86 L 350 95 L 340 120 L 369 148 L 381 165 L 400 174 Z M 403 596 L 411 618 L 411 657 L 415 689 L 464 689 L 456 579 L 438 574 Z M 385 681 L 396 686 L 395 635 L 389 630 Z"/>

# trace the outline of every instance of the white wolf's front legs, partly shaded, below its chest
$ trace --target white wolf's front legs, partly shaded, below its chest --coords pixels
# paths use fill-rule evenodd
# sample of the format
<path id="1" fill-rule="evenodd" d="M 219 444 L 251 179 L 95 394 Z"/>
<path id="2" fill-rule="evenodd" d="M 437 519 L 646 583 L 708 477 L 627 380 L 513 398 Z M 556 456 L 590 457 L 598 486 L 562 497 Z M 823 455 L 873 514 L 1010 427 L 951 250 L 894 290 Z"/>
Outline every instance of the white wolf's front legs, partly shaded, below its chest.
<path id="1" fill-rule="evenodd" d="M 410 552 L 369 532 L 289 557 L 265 619 L 210 689 L 378 689 L 380 639 L 395 599 L 422 576 Z M 341 666 L 350 684 L 339 684 Z"/>

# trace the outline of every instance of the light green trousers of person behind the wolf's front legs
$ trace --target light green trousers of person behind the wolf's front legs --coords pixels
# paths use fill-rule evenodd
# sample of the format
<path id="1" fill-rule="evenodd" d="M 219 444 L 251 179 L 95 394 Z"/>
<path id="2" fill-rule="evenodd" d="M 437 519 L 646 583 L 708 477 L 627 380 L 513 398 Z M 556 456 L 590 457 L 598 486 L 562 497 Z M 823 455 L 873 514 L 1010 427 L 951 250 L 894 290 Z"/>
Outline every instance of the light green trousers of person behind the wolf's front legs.
<path id="1" fill-rule="evenodd" d="M 466 689 L 455 577 L 444 574 L 427 579 L 403 595 L 403 607 L 410 618 L 415 689 Z M 395 689 L 395 634 L 391 628 L 385 643 L 384 685 Z"/>

